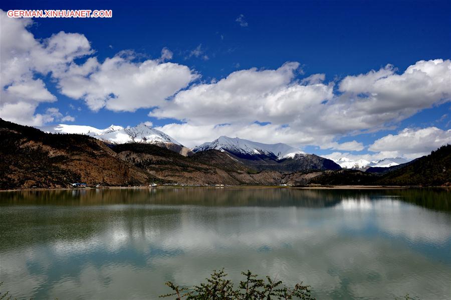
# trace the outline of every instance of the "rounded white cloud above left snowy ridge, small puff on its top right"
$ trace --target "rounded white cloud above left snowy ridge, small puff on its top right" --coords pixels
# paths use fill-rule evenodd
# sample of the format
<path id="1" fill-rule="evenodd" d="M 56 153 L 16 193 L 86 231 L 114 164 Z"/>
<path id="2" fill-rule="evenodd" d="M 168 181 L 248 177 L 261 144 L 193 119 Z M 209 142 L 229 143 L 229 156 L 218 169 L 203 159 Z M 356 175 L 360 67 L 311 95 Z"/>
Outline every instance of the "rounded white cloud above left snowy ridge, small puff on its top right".
<path id="1" fill-rule="evenodd" d="M 91 110 L 135 111 L 162 105 L 164 100 L 198 78 L 184 65 L 162 63 L 171 53 L 162 50 L 160 59 L 133 61 L 130 53 L 119 53 L 103 63 L 91 58 L 83 65 L 72 64 L 59 77 L 61 93 L 83 99 Z"/>

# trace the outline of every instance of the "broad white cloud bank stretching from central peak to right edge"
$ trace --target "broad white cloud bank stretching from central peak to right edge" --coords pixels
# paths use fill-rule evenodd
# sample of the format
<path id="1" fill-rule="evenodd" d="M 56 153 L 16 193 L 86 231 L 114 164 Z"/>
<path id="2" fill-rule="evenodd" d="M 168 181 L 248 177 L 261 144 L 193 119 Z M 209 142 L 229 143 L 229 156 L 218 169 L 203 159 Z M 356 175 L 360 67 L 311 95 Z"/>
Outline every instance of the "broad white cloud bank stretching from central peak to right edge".
<path id="1" fill-rule="evenodd" d="M 359 151 L 364 148 L 360 142 L 339 144 L 334 139 L 384 128 L 450 99 L 449 60 L 419 61 L 401 74 L 388 65 L 378 71 L 347 76 L 339 82 L 336 92 L 333 83 L 323 83 L 324 74 L 296 80 L 298 68 L 299 63 L 289 62 L 275 70 L 236 71 L 217 82 L 178 92 L 149 116 L 185 121 L 187 125 L 166 126 L 175 137 L 177 130 L 187 128 L 197 131 L 207 126 L 223 131 L 236 127 L 236 135 L 250 129 L 247 135 L 240 135 L 243 138 L 255 137 L 252 130 L 257 130 L 267 134 L 261 141 L 277 136 L 279 141 L 298 146 L 314 144 Z M 255 121 L 271 126 L 256 127 Z M 218 124 L 229 126 L 215 127 Z M 192 141 L 187 138 L 180 140 L 189 145 Z"/>

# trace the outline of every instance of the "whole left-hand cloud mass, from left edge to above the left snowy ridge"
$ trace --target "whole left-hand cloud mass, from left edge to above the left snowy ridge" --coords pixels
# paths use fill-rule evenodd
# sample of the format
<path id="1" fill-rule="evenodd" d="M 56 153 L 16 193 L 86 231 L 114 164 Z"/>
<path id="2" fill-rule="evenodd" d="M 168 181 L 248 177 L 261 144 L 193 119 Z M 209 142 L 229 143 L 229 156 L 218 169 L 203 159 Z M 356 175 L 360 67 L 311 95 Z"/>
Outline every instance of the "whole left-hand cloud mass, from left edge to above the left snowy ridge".
<path id="1" fill-rule="evenodd" d="M 172 58 L 167 48 L 154 60 L 136 62 L 133 52 L 122 51 L 101 63 L 89 57 L 94 51 L 84 35 L 59 32 L 37 40 L 28 31 L 30 19 L 8 18 L 3 11 L 0 17 L 0 112 L 7 120 L 28 125 L 52 120 L 35 114 L 41 103 L 57 101 L 39 76 L 50 74 L 62 94 L 84 100 L 94 111 L 158 106 L 199 77 L 186 66 L 166 62 Z M 86 57 L 82 64 L 75 62 Z"/>

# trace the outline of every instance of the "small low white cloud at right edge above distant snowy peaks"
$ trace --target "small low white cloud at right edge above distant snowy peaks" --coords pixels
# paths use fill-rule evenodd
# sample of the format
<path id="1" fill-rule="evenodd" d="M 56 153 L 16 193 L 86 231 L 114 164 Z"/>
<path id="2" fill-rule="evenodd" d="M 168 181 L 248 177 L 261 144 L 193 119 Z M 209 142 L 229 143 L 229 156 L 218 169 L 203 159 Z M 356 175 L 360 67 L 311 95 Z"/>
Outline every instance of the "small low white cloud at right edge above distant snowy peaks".
<path id="1" fill-rule="evenodd" d="M 393 157 L 404 156 L 414 159 L 429 154 L 447 143 L 451 143 L 451 130 L 442 130 L 437 127 L 404 128 L 398 134 L 388 134 L 375 140 L 368 150 L 391 152 L 394 154 Z"/>

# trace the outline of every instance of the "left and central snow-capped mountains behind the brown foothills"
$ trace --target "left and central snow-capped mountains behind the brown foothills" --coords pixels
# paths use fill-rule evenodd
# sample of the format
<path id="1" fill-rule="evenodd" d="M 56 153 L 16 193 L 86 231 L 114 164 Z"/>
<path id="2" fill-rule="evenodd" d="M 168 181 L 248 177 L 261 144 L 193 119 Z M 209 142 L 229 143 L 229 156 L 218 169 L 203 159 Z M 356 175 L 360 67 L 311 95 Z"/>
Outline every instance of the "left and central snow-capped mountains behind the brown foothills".
<path id="1" fill-rule="evenodd" d="M 111 125 L 105 129 L 91 126 L 66 125 L 37 127 L 48 133 L 78 133 L 102 140 L 108 144 L 147 143 L 165 147 L 183 156 L 208 150 L 228 153 L 246 167 L 256 171 L 295 172 L 302 170 L 338 170 L 333 161 L 314 154 L 306 154 L 300 149 L 284 143 L 265 144 L 242 138 L 220 136 L 212 142 L 189 149 L 164 132 L 143 123 L 133 127 Z"/>

